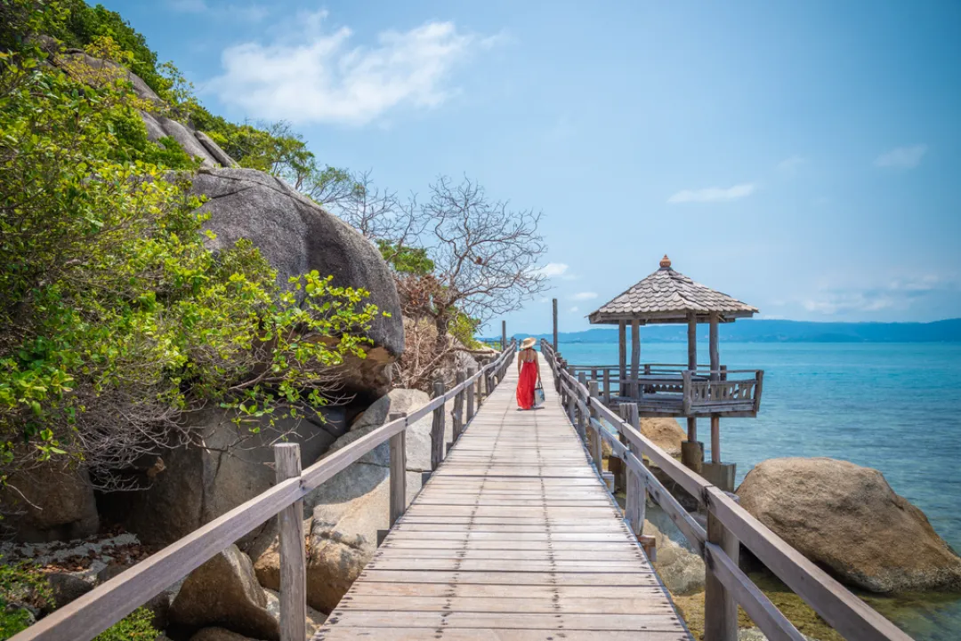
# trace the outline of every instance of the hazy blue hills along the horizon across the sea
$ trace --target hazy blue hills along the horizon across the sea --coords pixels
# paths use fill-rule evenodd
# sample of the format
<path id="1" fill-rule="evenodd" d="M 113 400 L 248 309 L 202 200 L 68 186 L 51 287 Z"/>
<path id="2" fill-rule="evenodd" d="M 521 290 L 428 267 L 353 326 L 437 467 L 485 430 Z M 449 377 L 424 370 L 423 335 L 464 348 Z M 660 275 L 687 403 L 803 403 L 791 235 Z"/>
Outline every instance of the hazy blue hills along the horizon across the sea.
<path id="1" fill-rule="evenodd" d="M 721 325 L 721 340 L 741 343 L 961 343 L 961 319 L 934 322 L 812 322 L 737 321 Z M 527 335 L 518 335 L 523 338 Z M 550 334 L 535 334 L 551 338 Z M 645 342 L 687 341 L 686 325 L 641 328 Z M 615 343 L 616 327 L 561 332 L 562 343 Z M 698 339 L 707 340 L 707 325 L 698 325 Z"/>

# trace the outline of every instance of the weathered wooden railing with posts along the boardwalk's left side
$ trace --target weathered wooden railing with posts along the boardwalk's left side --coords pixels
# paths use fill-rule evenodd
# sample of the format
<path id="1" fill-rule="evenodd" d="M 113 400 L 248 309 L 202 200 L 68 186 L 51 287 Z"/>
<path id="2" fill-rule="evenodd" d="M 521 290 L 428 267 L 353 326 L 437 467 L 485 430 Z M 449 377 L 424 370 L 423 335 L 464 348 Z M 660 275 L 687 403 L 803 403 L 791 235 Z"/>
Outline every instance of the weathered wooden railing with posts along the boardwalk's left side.
<path id="1" fill-rule="evenodd" d="M 457 384 L 449 391 L 434 387 L 431 402 L 410 414 L 391 414 L 388 421 L 370 434 L 301 470 L 299 447 L 295 443 L 275 446 L 277 484 L 204 527 L 163 548 L 96 587 L 69 605 L 64 605 L 35 625 L 12 637 L 12 641 L 90 641 L 123 619 L 137 607 L 183 579 L 230 546 L 244 534 L 277 515 L 281 565 L 281 641 L 304 641 L 306 636 L 306 549 L 302 500 L 337 472 L 390 441 L 390 525 L 404 513 L 407 427 L 433 413 L 431 468 L 444 452 L 444 407 L 454 399 L 454 439 L 475 415 L 483 398 L 504 379 L 516 344 L 507 348 L 479 371 L 458 372 Z M 475 400 L 477 405 L 475 405 Z"/>

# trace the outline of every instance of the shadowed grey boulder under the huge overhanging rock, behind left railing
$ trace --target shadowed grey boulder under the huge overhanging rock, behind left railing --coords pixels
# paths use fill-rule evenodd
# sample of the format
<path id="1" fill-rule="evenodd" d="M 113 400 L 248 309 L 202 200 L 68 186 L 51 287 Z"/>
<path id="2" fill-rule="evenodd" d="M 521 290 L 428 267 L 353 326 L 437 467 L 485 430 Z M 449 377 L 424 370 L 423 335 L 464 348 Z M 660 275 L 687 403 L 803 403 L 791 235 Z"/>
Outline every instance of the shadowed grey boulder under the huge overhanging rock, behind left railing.
<path id="1" fill-rule="evenodd" d="M 282 420 L 252 434 L 222 410 L 199 412 L 188 421 L 201 430 L 206 449 L 184 446 L 164 452 L 143 480 L 148 487 L 100 496 L 101 511 L 143 543 L 169 544 L 272 487 L 276 472 L 270 444 L 282 434 L 294 430 L 286 438 L 300 445 L 303 466 L 316 461 L 345 429 L 342 408 L 330 408 L 325 416 L 324 425 Z"/>

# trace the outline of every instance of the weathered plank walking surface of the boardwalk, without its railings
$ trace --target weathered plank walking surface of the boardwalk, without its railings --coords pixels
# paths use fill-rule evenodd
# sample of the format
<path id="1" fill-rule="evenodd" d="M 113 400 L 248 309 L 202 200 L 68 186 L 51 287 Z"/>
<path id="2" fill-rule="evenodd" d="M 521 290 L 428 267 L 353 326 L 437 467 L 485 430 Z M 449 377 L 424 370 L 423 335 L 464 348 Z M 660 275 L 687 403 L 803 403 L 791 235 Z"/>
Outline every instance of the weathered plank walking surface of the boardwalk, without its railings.
<path id="1" fill-rule="evenodd" d="M 541 366 L 481 406 L 315 641 L 689 641 Z"/>

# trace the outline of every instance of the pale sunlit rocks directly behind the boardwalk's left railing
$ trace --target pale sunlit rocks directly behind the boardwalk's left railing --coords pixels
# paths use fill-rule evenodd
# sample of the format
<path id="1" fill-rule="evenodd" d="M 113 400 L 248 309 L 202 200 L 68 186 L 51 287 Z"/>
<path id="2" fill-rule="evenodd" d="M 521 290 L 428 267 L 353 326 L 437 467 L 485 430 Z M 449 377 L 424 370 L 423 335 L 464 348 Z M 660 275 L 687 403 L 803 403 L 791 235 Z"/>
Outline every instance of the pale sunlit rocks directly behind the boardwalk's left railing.
<path id="1" fill-rule="evenodd" d="M 360 415 L 331 453 L 380 427 L 392 412 L 413 412 L 430 398 L 416 390 L 393 390 Z M 420 491 L 421 472 L 431 468 L 431 415 L 407 428 L 407 501 Z M 308 605 L 330 612 L 377 549 L 377 531 L 388 528 L 390 452 L 384 443 L 339 472 L 304 499 L 308 532 Z M 280 559 L 276 534 L 251 547 L 264 587 L 277 589 Z"/>

